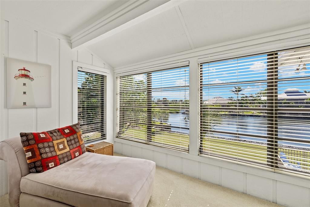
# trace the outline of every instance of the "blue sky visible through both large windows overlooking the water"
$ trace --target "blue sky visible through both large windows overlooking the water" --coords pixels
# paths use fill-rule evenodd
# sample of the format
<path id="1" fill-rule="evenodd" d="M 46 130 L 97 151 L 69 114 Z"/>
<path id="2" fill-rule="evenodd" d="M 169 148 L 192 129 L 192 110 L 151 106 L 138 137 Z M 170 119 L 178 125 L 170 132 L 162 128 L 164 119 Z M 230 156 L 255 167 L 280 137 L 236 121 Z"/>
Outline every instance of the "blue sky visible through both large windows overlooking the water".
<path id="1" fill-rule="evenodd" d="M 293 52 L 293 53 L 292 53 Z M 292 54 L 295 55 L 292 57 Z M 302 57 L 302 61 L 298 57 Z M 291 77 L 310 76 L 309 55 L 295 54 L 294 51 L 279 53 L 278 67 L 279 79 Z M 299 64 L 307 70 L 295 72 Z M 305 64 L 305 65 L 303 65 Z M 234 97 L 236 95 L 230 90 L 234 86 L 244 89 L 241 94 L 256 94 L 267 88 L 267 55 L 256 55 L 244 58 L 235 58 L 218 62 L 210 62 L 202 65 L 203 84 L 218 84 L 203 87 L 203 99 L 211 99 L 217 96 L 223 98 Z M 271 70 L 271 68 L 269 68 Z M 146 74 L 134 75 L 135 81 L 143 80 L 146 83 Z M 259 81 L 257 83 L 241 83 L 242 81 Z M 239 84 L 229 84 L 238 82 Z M 152 88 L 176 87 L 177 89 L 158 89 L 152 91 L 153 99 L 188 99 L 189 98 L 189 67 L 175 68 L 171 70 L 152 72 Z M 278 93 L 283 93 L 288 89 L 299 89 L 299 91 L 310 90 L 310 79 L 302 81 L 279 81 Z M 183 86 L 183 87 L 182 87 Z"/>

